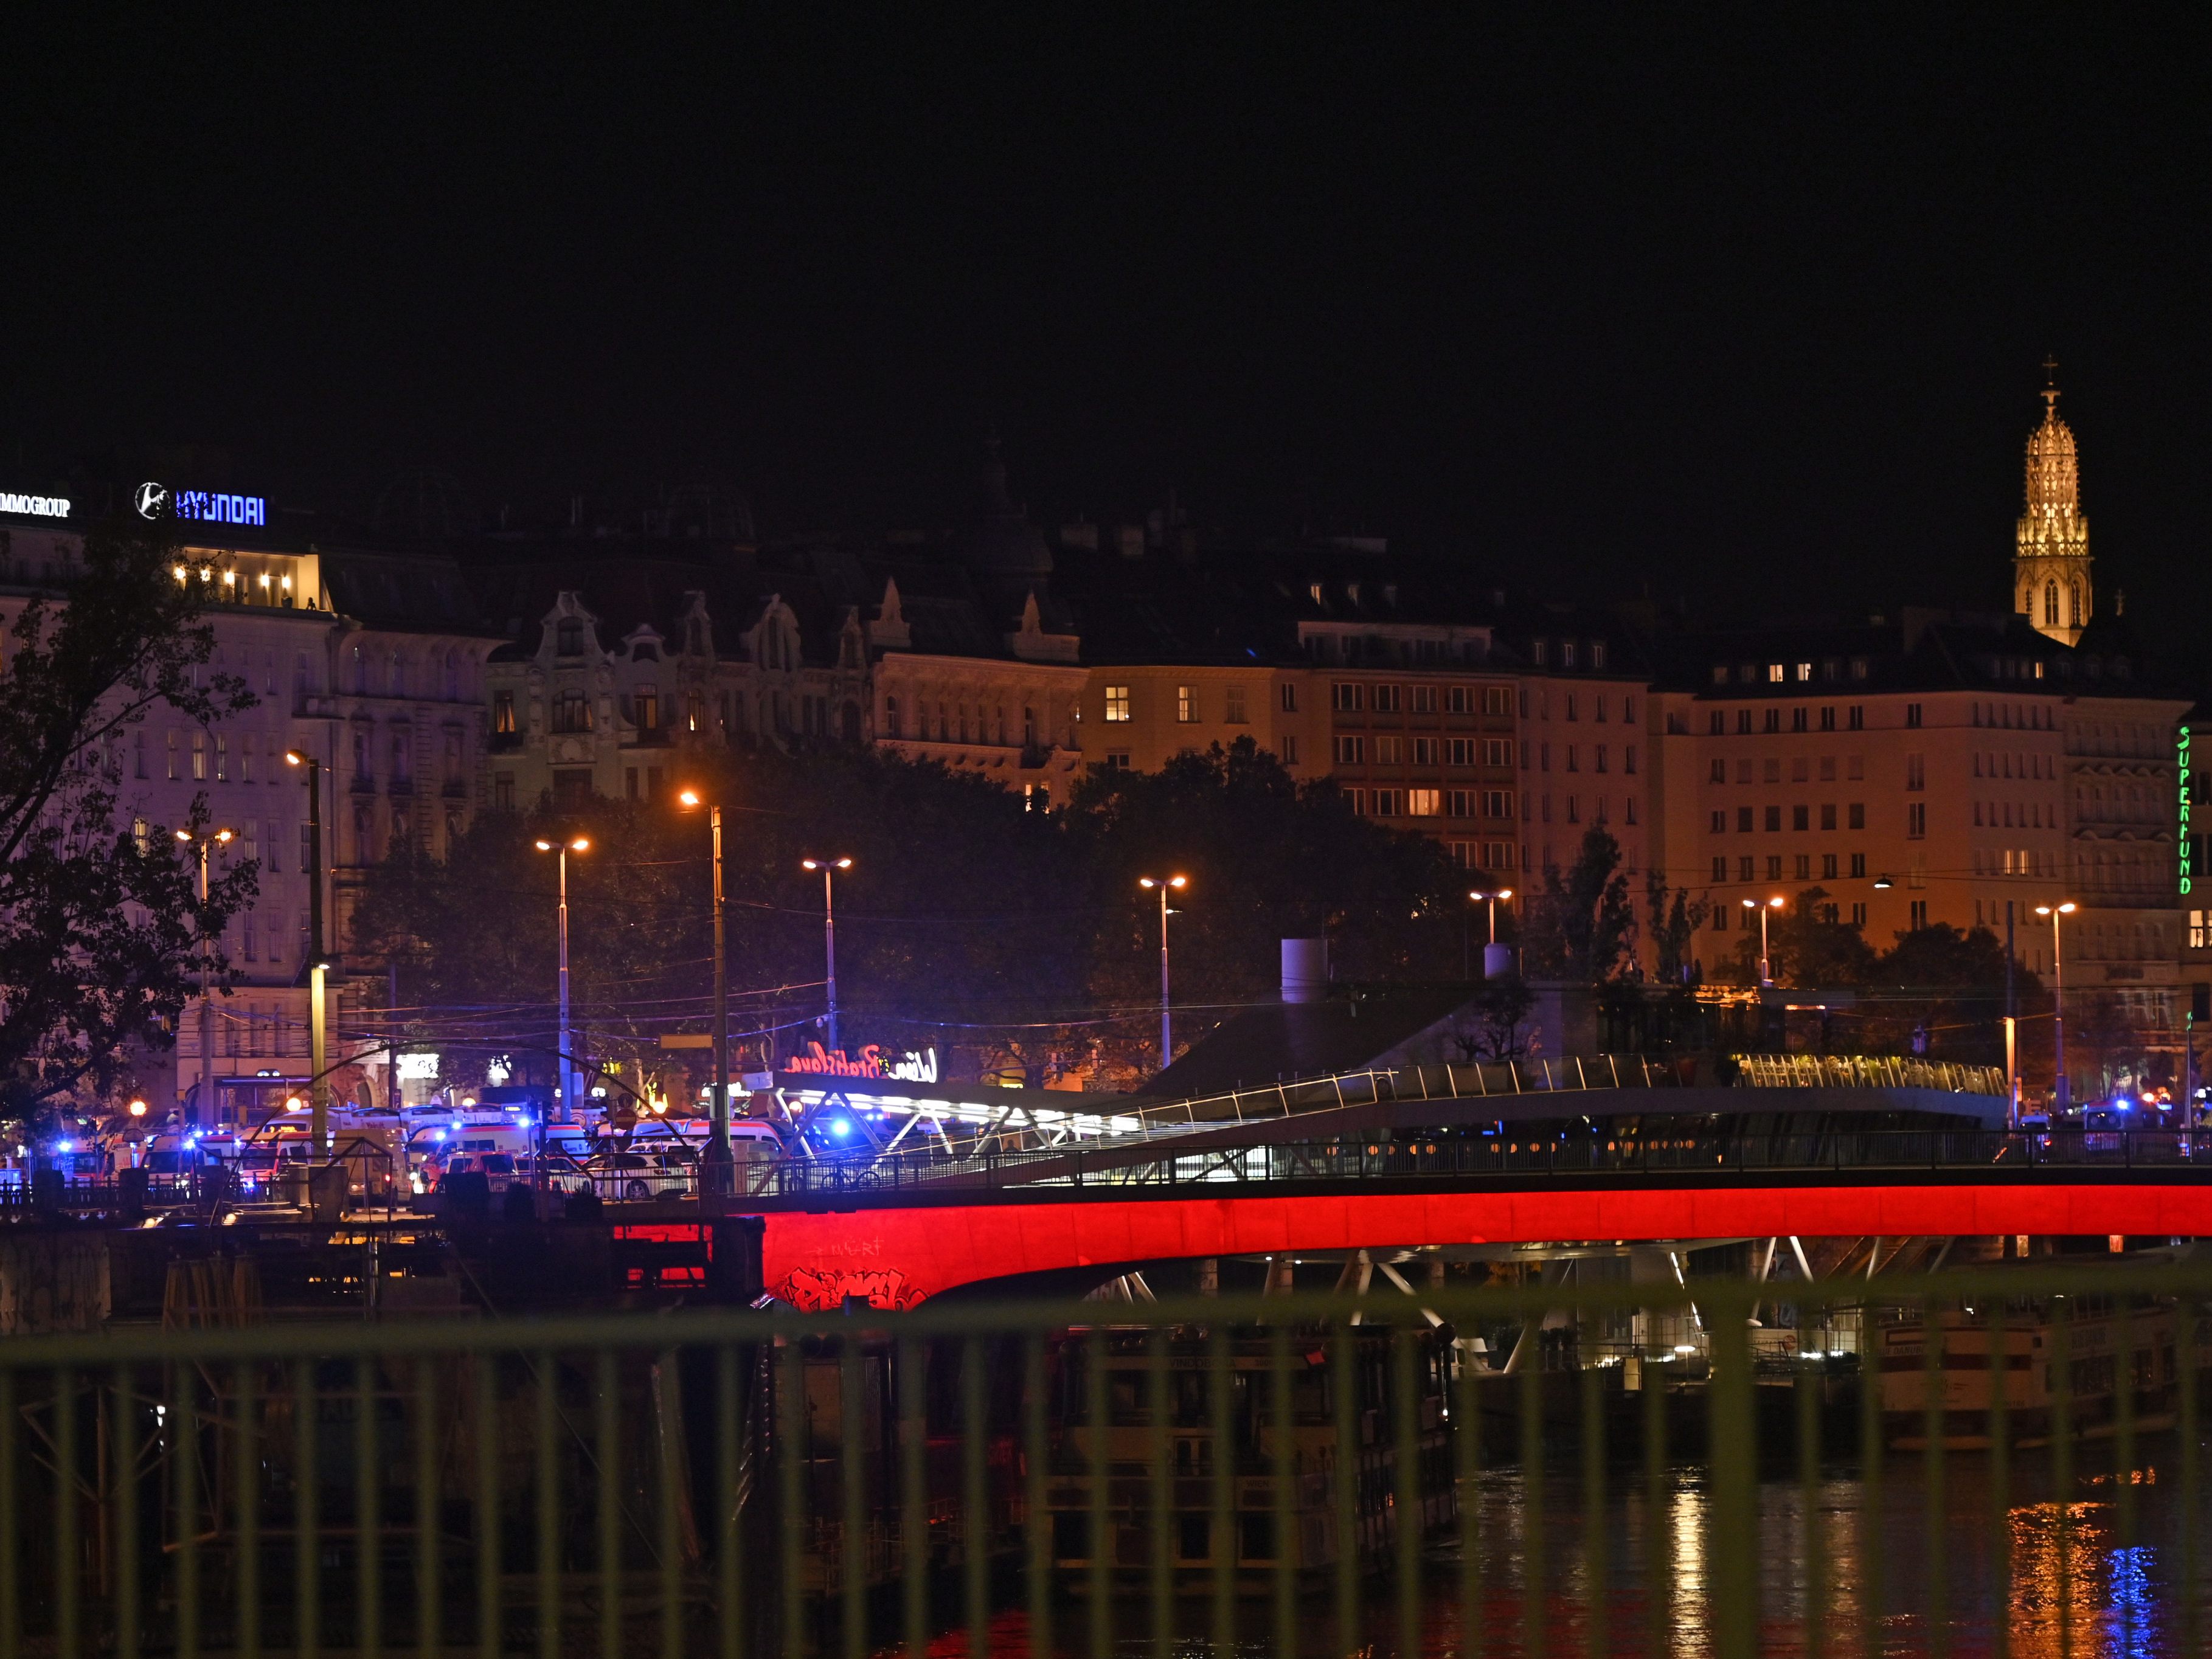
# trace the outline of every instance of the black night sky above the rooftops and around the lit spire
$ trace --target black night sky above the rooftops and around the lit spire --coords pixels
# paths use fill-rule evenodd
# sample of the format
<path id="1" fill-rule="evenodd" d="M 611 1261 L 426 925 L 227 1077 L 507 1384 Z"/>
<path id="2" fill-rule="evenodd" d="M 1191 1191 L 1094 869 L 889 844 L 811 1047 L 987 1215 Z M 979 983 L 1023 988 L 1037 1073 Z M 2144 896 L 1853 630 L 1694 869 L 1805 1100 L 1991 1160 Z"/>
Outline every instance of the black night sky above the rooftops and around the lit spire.
<path id="1" fill-rule="evenodd" d="M 2106 591 L 2212 602 L 2190 11 L 447 11 L 9 27 L 7 467 L 774 533 L 995 422 L 1040 518 L 2002 602 L 2053 352 Z"/>

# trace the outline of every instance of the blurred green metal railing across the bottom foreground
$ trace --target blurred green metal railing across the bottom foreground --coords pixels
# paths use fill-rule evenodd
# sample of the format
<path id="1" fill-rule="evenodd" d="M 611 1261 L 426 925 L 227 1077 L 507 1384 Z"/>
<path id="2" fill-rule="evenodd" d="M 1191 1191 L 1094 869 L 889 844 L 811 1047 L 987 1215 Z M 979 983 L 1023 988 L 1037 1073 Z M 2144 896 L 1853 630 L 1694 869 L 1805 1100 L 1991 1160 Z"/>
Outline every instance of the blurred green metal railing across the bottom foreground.
<path id="1" fill-rule="evenodd" d="M 0 1652 L 2201 1652 L 2208 1298 L 1989 1267 L 15 1340 Z"/>

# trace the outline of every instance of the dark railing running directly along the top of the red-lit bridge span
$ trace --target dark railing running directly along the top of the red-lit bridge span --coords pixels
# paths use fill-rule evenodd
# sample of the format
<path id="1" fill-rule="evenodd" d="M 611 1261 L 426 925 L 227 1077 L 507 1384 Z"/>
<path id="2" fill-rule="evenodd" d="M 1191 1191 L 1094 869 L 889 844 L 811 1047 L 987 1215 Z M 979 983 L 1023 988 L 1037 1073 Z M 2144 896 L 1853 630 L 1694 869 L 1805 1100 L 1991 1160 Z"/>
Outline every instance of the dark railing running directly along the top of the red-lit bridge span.
<path id="1" fill-rule="evenodd" d="M 2212 1130 L 1823 1130 L 1807 1135 L 1639 1135 L 1500 1126 L 1498 1133 L 1394 1130 L 1312 1141 L 1272 1141 L 1177 1152 L 1161 1148 L 1040 1148 L 975 1159 L 894 1155 L 821 1159 L 748 1170 L 750 1199 L 810 1199 L 962 1190 L 1152 1188 L 1380 1179 L 1484 1179 L 1533 1175 L 1869 1175 L 1958 1170 L 2022 1177 L 2042 1170 L 2172 1170 L 2212 1179 Z"/>

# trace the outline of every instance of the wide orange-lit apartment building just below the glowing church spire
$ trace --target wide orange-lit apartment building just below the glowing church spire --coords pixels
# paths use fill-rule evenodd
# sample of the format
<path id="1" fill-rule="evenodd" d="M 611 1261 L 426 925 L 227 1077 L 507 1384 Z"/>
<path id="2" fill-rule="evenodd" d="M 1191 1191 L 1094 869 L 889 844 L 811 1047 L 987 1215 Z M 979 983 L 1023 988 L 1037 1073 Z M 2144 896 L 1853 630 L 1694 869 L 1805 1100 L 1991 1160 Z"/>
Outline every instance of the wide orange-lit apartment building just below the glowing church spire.
<path id="1" fill-rule="evenodd" d="M 1896 933 L 2011 920 L 2048 973 L 2037 905 L 2073 900 L 2059 949 L 2150 1024 L 2172 1018 L 2181 942 L 2172 803 L 2183 699 L 2141 684 L 2093 626 L 2079 648 L 2024 617 L 1907 613 L 1898 626 L 1699 641 L 1703 684 L 1652 692 L 1657 856 L 1712 905 L 1818 887 L 1832 918 Z"/>

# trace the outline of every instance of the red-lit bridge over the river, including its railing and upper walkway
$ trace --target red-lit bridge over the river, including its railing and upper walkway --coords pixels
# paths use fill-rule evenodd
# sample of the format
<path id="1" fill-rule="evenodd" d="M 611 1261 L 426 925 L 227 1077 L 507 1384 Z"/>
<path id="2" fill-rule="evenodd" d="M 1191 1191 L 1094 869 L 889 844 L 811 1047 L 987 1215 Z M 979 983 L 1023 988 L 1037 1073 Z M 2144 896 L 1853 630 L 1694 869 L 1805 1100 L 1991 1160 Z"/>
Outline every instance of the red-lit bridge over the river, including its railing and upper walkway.
<path id="1" fill-rule="evenodd" d="M 865 1124 L 876 1146 L 754 1168 L 732 1210 L 763 1217 L 763 1279 L 807 1307 L 1405 1245 L 2212 1234 L 2212 1133 L 2011 1133 L 1989 1073 L 1880 1062 L 1900 1071 L 1860 1079 L 1856 1064 L 1728 1088 L 1641 1068 L 1615 1086 L 1588 1062 L 1564 1088 L 1520 1091 L 1489 1088 L 1493 1066 L 1449 1082 L 1444 1068 L 1365 1073 L 1234 1102 L 1133 1102 L 1119 1133 L 1088 1139 L 1040 1128 L 925 1150 L 887 1133 L 914 1121 L 887 1097 L 823 1095 L 796 1102 L 807 1135 L 880 1110 Z M 860 1135 L 854 1121 L 843 1139 Z"/>

